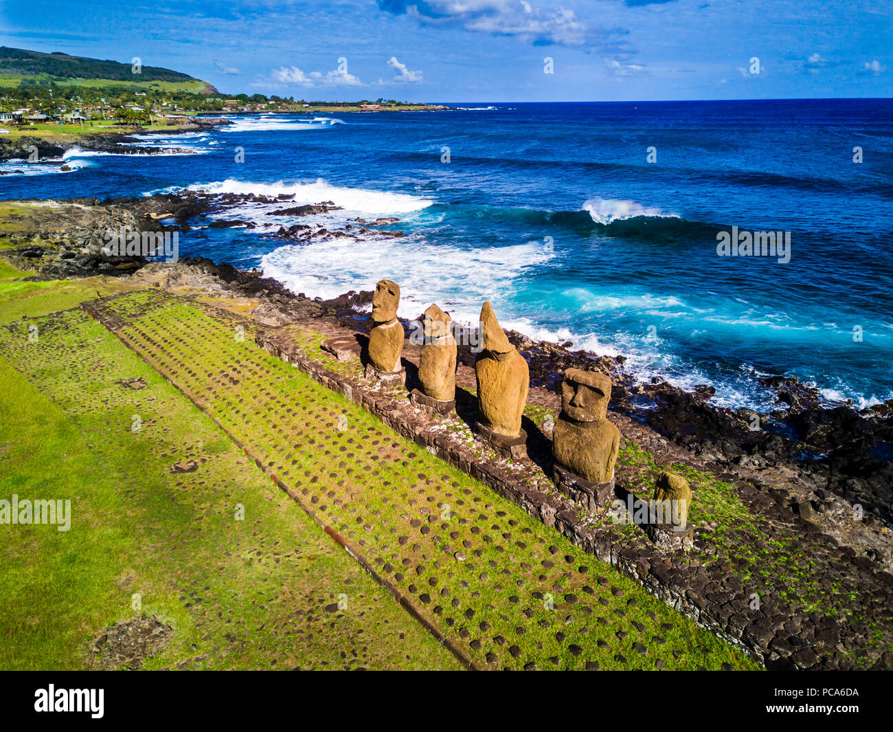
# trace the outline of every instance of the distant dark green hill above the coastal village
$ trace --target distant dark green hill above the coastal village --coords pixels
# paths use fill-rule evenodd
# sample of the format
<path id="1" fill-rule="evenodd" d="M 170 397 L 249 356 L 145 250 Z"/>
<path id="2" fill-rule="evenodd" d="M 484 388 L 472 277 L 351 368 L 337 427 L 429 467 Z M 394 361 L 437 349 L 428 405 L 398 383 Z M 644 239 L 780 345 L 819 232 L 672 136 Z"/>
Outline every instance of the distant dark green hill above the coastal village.
<path id="1" fill-rule="evenodd" d="M 142 66 L 140 73 L 136 74 L 129 63 L 100 61 L 59 51 L 42 54 L 38 51 L 0 46 L 0 87 L 18 86 L 22 82 L 46 84 L 50 81 L 60 86 L 126 85 L 181 89 L 205 94 L 216 92 L 206 81 L 158 66 Z"/>

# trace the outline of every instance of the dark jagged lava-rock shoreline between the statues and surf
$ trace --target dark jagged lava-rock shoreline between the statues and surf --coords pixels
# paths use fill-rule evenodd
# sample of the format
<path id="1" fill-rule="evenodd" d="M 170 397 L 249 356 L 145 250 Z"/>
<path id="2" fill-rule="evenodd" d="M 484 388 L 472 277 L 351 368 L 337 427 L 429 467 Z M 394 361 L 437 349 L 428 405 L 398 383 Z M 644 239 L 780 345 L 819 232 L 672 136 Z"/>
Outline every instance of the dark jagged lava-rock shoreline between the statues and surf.
<path id="1" fill-rule="evenodd" d="M 334 207 L 331 202 L 288 206 L 293 198 L 190 192 L 104 202 L 34 202 L 33 215 L 18 222 L 21 231 L 8 235 L 13 248 L 2 254 L 13 265 L 33 271 L 33 279 L 131 277 L 166 290 L 250 301 L 252 317 L 267 325 L 309 318 L 368 332 L 371 322 L 363 307 L 371 303 L 371 292 L 311 299 L 256 270 L 240 271 L 204 257 L 165 264 L 144 257 L 106 257 L 102 252 L 104 232 L 120 231 L 122 226 L 155 232 L 202 225 L 250 226 L 236 219 L 206 220 L 209 213 L 220 214 L 227 206 L 246 201 L 282 204 L 288 215 L 324 215 Z M 338 231 L 319 223 L 296 224 L 271 236 L 296 241 L 355 237 L 369 231 L 399 236 L 398 231 L 380 228 L 395 221 L 357 220 Z M 410 324 L 404 325 L 408 332 Z M 753 485 L 784 509 L 821 526 L 839 543 L 893 568 L 893 402 L 863 410 L 828 407 L 816 389 L 795 377 L 777 376 L 762 383 L 775 397 L 771 413 L 720 408 L 710 403 L 714 393 L 710 386 L 684 391 L 662 380 L 641 383 L 627 370 L 622 356 L 575 350 L 568 342 L 534 341 L 517 332 L 508 335 L 528 360 L 532 387 L 555 393 L 563 372 L 572 367 L 610 374 L 614 384 L 610 406 L 615 414 L 673 442 L 714 474 Z M 460 346 L 458 358 L 464 366 L 473 365 L 469 346 Z"/>

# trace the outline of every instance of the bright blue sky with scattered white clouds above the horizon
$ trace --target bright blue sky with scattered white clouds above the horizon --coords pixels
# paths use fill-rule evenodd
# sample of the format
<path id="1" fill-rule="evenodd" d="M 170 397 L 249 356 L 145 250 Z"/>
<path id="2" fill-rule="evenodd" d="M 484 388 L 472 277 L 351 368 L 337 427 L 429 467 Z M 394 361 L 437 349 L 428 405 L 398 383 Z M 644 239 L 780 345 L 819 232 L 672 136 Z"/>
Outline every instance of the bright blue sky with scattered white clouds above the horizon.
<path id="1" fill-rule="evenodd" d="M 0 45 L 138 56 L 229 93 L 501 102 L 893 88 L 893 0 L 0 3 Z"/>

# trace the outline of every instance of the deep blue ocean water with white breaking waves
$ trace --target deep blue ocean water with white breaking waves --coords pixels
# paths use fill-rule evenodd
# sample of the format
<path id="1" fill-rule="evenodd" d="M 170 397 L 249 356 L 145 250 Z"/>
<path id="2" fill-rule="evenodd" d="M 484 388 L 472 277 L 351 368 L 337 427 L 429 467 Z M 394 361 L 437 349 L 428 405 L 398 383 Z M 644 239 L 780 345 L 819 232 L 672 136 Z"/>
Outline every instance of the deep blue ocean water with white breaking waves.
<path id="1" fill-rule="evenodd" d="M 437 302 L 476 322 L 489 299 L 507 327 L 624 354 L 644 379 L 712 383 L 729 406 L 769 407 L 765 374 L 857 406 L 893 397 L 893 100 L 491 106 L 243 116 L 148 140 L 196 155 L 7 164 L 31 174 L 0 176 L 0 198 L 191 187 L 332 200 L 345 210 L 317 221 L 397 216 L 387 228 L 405 237 L 283 246 L 268 234 L 306 219 L 242 206 L 225 217 L 263 225 L 193 229 L 180 256 L 263 266 L 310 296 L 388 277 L 402 316 Z M 789 231 L 790 261 L 718 256 L 732 226 Z"/>

